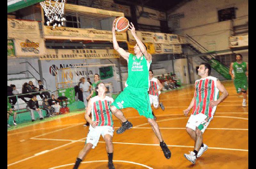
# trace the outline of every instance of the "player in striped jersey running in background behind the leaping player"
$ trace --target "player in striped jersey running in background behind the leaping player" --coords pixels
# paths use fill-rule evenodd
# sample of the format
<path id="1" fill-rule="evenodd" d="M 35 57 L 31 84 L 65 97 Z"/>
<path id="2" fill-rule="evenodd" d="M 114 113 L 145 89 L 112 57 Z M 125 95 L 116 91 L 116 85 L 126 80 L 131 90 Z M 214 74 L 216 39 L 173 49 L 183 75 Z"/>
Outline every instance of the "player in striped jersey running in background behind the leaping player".
<path id="1" fill-rule="evenodd" d="M 150 69 L 149 70 L 149 91 L 148 91 L 148 96 L 149 96 L 149 101 L 150 101 L 150 104 L 152 105 L 153 103 L 153 106 L 155 109 L 158 109 L 159 108 L 159 105 L 161 107 L 162 110 L 164 110 L 164 105 L 162 102 L 159 103 L 159 95 L 160 95 L 160 91 L 163 89 L 163 85 L 160 83 L 160 81 L 153 77 L 153 71 Z M 156 116 L 155 114 L 153 113 L 153 110 L 152 110 L 152 114 L 154 116 L 154 120 L 156 120 Z"/>

